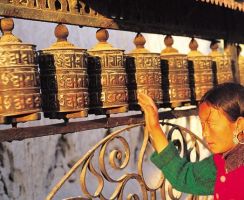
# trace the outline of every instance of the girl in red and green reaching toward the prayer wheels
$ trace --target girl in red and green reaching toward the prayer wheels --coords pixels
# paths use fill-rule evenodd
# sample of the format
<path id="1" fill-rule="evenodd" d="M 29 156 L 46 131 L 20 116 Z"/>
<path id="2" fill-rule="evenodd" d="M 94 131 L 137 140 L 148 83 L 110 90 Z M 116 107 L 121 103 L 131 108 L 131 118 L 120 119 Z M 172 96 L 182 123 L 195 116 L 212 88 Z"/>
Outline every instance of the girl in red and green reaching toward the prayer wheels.
<path id="1" fill-rule="evenodd" d="M 146 127 L 156 151 L 152 162 L 179 191 L 212 195 L 214 199 L 244 200 L 244 87 L 220 84 L 209 90 L 199 104 L 202 134 L 213 155 L 191 163 L 180 158 L 160 128 L 153 100 L 140 93 Z"/>

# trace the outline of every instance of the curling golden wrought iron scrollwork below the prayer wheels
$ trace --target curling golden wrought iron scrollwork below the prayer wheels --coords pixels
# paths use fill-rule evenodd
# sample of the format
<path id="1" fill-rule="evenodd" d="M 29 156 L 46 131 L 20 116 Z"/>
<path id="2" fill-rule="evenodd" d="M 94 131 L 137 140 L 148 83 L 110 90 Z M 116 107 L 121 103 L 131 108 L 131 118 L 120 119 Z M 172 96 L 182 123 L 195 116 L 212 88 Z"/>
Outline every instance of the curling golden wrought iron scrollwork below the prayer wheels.
<path id="1" fill-rule="evenodd" d="M 193 152 L 196 153 L 195 160 L 198 161 L 200 158 L 200 147 L 199 145 L 204 145 L 201 139 L 196 136 L 194 133 L 189 131 L 186 128 L 181 126 L 161 122 L 162 128 L 167 131 L 167 137 L 171 140 L 177 147 L 180 155 L 186 156 L 189 160 L 191 160 L 191 154 Z M 68 178 L 79 168 L 81 167 L 80 172 L 80 186 L 82 190 L 82 194 L 84 198 L 89 199 L 180 199 L 182 194 L 176 191 L 168 181 L 163 177 L 163 175 L 157 181 L 157 184 L 151 186 L 147 183 L 146 178 L 144 176 L 143 164 L 145 161 L 145 154 L 147 153 L 147 148 L 150 144 L 149 134 L 147 129 L 144 129 L 143 140 L 141 149 L 139 151 L 138 160 L 137 160 L 137 169 L 135 172 L 129 172 L 127 170 L 127 166 L 130 163 L 130 144 L 127 141 L 126 137 L 122 135 L 125 132 L 129 132 L 129 134 L 133 134 L 133 131 L 136 128 L 144 128 L 143 123 L 138 123 L 134 125 L 127 126 L 120 130 L 117 130 L 100 142 L 98 142 L 92 149 L 90 149 L 71 169 L 67 174 L 61 179 L 61 181 L 56 184 L 56 186 L 52 189 L 52 191 L 48 194 L 46 200 L 51 200 L 57 193 L 59 189 L 61 189 L 62 185 L 68 180 Z M 142 134 L 142 133 L 140 133 Z M 175 137 L 175 135 L 178 135 Z M 109 145 L 115 142 L 116 146 L 110 150 L 109 153 Z M 122 145 L 122 149 L 118 148 L 117 145 Z M 111 146 L 110 146 L 111 148 Z M 98 166 L 94 165 L 94 159 L 98 157 Z M 110 169 L 108 170 L 107 162 L 109 163 Z M 111 169 L 116 171 L 127 170 L 123 175 L 114 178 L 114 174 L 111 174 Z M 87 186 L 87 175 L 90 173 L 94 177 L 94 180 L 97 181 L 97 184 L 94 185 L 91 192 Z M 125 190 L 128 182 L 136 181 L 139 185 L 140 191 L 135 193 L 126 194 L 128 191 Z M 105 193 L 106 184 L 115 184 L 114 190 L 109 197 L 106 197 Z M 126 197 L 125 197 L 126 196 Z M 158 196 L 158 198 L 157 198 Z M 160 196 L 160 197 L 159 197 Z M 81 197 L 73 197 L 71 199 L 79 199 Z M 70 199 L 70 198 L 68 198 Z M 70 199 L 70 200 L 71 200 Z M 199 199 L 199 197 L 195 197 L 190 195 L 188 199 Z"/>

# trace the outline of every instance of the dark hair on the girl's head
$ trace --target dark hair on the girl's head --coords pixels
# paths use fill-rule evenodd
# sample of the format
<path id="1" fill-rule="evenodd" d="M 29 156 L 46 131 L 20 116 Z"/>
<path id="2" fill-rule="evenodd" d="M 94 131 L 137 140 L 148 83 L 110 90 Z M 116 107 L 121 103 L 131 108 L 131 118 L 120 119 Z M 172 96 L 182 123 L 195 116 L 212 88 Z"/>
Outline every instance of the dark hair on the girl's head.
<path id="1" fill-rule="evenodd" d="M 238 117 L 244 117 L 244 86 L 238 83 L 219 84 L 208 92 L 200 100 L 215 108 L 221 108 L 231 121 Z"/>

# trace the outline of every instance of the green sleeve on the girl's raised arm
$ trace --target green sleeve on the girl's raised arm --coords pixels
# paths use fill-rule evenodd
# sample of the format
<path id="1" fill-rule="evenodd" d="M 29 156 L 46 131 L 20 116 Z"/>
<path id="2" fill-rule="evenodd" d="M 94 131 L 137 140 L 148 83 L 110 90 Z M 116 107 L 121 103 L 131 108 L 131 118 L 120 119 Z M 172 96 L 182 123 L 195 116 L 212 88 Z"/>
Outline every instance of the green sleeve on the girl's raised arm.
<path id="1" fill-rule="evenodd" d="M 154 152 L 151 161 L 178 191 L 196 195 L 213 194 L 216 178 L 213 156 L 199 162 L 189 162 L 179 156 L 171 142 L 159 154 Z"/>

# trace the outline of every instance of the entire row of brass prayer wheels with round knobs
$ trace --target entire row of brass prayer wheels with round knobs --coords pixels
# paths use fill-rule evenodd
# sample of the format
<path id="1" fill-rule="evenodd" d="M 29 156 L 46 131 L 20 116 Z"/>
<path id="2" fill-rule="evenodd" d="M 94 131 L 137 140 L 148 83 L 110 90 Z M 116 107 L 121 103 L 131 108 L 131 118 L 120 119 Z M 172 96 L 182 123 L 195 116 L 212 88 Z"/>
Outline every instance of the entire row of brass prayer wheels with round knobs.
<path id="1" fill-rule="evenodd" d="M 12 34 L 13 28 L 11 18 L 1 20 L 0 123 L 37 120 L 40 111 L 53 119 L 86 117 L 88 111 L 126 112 L 139 109 L 138 92 L 159 106 L 196 104 L 213 85 L 233 81 L 230 56 L 219 53 L 217 43 L 204 56 L 192 39 L 191 51 L 184 55 L 167 35 L 166 48 L 158 54 L 145 49 L 144 37 L 137 34 L 136 48 L 124 54 L 107 42 L 107 30 L 99 29 L 99 42 L 85 50 L 68 42 L 68 29 L 59 24 L 57 42 L 36 52 L 35 45 Z"/>

